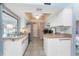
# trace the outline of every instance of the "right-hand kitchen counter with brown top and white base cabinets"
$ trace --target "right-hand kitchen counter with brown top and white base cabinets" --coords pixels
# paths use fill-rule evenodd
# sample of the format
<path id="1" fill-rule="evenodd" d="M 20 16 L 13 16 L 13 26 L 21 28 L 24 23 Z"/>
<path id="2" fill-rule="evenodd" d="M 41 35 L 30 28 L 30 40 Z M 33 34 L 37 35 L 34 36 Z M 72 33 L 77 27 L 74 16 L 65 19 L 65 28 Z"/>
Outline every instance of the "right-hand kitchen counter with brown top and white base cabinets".
<path id="1" fill-rule="evenodd" d="M 44 34 L 44 52 L 47 56 L 70 56 L 71 34 Z"/>

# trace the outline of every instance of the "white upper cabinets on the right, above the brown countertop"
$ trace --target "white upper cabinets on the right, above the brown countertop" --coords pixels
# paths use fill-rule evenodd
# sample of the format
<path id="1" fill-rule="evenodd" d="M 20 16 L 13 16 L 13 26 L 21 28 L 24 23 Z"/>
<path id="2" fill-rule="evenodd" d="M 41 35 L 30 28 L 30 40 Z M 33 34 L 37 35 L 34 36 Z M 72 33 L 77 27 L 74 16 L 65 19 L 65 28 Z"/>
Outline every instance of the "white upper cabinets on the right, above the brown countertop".
<path id="1" fill-rule="evenodd" d="M 72 25 L 72 9 L 71 8 L 64 8 L 61 13 L 53 18 L 51 18 L 50 26 L 57 26 L 57 25 L 65 25 L 71 26 Z"/>

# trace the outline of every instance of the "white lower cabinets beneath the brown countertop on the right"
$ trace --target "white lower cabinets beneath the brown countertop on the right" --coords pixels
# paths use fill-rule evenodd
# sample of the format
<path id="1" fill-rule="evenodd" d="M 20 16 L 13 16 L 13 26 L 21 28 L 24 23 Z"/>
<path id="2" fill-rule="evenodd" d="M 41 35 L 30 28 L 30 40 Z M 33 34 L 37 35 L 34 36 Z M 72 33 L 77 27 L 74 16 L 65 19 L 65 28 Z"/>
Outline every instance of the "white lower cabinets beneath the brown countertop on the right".
<path id="1" fill-rule="evenodd" d="M 44 38 L 44 52 L 47 56 L 70 56 L 71 39 Z"/>

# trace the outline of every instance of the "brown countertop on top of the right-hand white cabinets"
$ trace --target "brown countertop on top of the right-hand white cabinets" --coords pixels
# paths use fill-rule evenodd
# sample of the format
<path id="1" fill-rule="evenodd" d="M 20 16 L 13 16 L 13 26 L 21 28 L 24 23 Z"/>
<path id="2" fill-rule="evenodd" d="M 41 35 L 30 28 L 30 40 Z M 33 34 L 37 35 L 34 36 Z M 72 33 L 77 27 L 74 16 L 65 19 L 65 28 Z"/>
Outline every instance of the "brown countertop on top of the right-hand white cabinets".
<path id="1" fill-rule="evenodd" d="M 47 38 L 72 38 L 71 34 L 44 34 Z"/>

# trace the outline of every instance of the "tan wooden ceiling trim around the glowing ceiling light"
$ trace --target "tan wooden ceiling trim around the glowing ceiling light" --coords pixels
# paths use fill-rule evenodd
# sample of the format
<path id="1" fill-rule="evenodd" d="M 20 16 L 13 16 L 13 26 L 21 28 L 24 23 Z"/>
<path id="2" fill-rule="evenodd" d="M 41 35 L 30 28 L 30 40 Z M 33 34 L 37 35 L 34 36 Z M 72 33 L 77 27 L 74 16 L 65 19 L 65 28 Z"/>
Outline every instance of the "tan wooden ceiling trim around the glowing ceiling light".
<path id="1" fill-rule="evenodd" d="M 50 15 L 50 13 L 43 13 L 40 16 L 39 19 L 36 19 L 35 17 L 33 17 L 32 12 L 26 12 L 25 15 L 28 18 L 28 21 L 31 21 L 31 22 L 45 22 L 46 19 L 48 18 L 48 16 Z"/>

